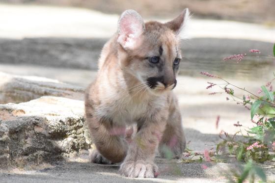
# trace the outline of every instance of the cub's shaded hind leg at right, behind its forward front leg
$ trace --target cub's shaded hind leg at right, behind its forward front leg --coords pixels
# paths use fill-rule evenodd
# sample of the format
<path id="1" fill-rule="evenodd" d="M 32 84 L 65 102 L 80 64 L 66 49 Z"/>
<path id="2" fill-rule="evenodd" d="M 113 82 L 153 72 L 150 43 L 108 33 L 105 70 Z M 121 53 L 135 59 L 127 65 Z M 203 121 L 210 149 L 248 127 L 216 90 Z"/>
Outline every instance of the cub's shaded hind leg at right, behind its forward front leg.
<path id="1" fill-rule="evenodd" d="M 166 157 L 167 148 L 173 153 L 173 158 L 180 158 L 184 152 L 186 140 L 178 108 L 170 111 L 162 140 L 159 144 L 161 157 Z"/>

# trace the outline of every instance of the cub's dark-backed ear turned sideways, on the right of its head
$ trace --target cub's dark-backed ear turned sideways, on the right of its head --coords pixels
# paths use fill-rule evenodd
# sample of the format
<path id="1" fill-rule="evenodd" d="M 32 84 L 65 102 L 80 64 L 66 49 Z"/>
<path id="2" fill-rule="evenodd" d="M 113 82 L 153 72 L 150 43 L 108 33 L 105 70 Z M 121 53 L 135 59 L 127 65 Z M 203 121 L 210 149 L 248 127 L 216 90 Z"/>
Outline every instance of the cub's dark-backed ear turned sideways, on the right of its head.
<path id="1" fill-rule="evenodd" d="M 189 14 L 189 9 L 185 8 L 178 17 L 170 22 L 165 23 L 165 26 L 172 29 L 179 39 L 186 38 L 185 29 L 190 19 Z"/>

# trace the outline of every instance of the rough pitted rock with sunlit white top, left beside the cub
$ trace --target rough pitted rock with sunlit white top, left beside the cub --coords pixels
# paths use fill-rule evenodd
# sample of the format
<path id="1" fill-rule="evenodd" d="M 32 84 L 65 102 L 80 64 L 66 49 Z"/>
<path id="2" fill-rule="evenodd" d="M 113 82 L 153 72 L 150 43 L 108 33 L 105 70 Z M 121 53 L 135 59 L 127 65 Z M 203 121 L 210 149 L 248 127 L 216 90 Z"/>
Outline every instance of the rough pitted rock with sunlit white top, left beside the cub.
<path id="1" fill-rule="evenodd" d="M 83 101 L 41 97 L 0 105 L 0 168 L 54 162 L 90 148 Z"/>

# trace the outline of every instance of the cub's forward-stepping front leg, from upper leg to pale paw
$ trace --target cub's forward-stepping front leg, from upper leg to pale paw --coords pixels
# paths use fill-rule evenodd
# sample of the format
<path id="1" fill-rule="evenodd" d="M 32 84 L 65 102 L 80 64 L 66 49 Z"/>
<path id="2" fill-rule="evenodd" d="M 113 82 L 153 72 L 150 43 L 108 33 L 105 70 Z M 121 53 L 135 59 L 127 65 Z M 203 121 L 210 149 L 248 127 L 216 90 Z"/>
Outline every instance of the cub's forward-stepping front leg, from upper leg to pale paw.
<path id="1" fill-rule="evenodd" d="M 145 120 L 138 130 L 129 146 L 127 156 L 120 165 L 119 171 L 126 177 L 156 177 L 158 167 L 154 164 L 155 152 L 162 138 L 166 120 L 165 117 L 150 119 L 151 121 Z"/>

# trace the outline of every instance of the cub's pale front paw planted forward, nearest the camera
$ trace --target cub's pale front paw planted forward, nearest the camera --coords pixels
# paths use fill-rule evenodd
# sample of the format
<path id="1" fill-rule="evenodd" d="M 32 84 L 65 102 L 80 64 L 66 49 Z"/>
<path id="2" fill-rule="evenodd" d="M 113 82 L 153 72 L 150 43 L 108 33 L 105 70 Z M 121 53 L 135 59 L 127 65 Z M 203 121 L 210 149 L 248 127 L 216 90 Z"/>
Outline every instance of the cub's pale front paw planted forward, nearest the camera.
<path id="1" fill-rule="evenodd" d="M 154 178 L 157 177 L 158 167 L 153 162 L 147 161 L 126 161 L 120 165 L 121 175 L 133 178 Z"/>

